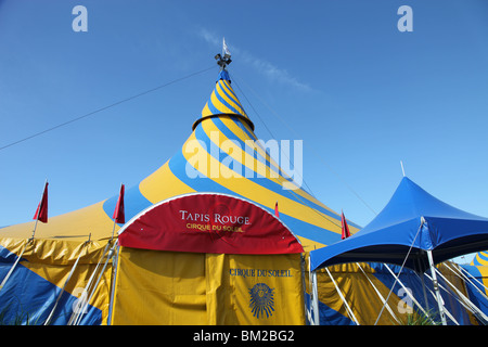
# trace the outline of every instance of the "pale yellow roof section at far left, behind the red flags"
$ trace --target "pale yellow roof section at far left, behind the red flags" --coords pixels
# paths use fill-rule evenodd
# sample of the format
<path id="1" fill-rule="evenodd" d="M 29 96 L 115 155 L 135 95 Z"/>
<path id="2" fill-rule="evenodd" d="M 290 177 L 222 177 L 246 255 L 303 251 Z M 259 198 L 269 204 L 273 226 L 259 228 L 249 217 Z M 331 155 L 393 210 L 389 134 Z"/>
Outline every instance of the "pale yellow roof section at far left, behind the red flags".
<path id="1" fill-rule="evenodd" d="M 87 241 L 110 237 L 114 221 L 103 210 L 103 202 L 75 211 L 50 217 L 47 223 L 38 222 L 36 239 L 60 239 Z M 118 229 L 118 227 L 116 227 Z M 2 228 L 2 237 L 29 239 L 34 221 Z"/>

